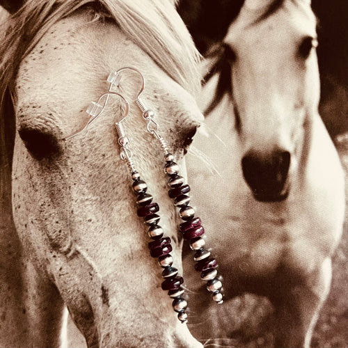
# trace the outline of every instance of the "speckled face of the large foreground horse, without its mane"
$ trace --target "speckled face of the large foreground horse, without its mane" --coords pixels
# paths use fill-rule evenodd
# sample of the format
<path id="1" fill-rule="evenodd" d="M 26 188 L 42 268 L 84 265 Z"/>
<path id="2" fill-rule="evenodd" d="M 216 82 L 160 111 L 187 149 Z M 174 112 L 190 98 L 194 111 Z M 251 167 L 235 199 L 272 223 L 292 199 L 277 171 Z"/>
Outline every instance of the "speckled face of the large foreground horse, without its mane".
<path id="1" fill-rule="evenodd" d="M 147 87 L 143 100 L 157 113 L 178 164 L 198 124 L 193 97 L 169 78 L 115 24 L 81 11 L 54 24 L 20 66 L 15 86 L 17 135 L 13 159 L 16 228 L 42 278 L 58 288 L 89 347 L 200 347 L 177 321 L 161 290 L 161 269 L 150 258 L 148 236 L 136 216 L 127 165 L 120 159 L 110 106 L 88 132 L 86 106 L 106 92 L 109 72 L 136 66 Z M 141 87 L 130 74 L 120 82 L 132 102 Z M 175 209 L 168 198 L 164 157 L 131 103 L 125 129 L 134 163 L 161 207 L 181 270 Z"/>

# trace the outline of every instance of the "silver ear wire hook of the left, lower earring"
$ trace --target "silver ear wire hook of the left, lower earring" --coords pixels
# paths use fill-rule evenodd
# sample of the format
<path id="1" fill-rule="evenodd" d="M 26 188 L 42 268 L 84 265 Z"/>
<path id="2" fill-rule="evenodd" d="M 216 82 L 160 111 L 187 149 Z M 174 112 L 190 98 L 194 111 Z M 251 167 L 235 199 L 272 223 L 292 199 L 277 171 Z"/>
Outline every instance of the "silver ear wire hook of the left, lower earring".
<path id="1" fill-rule="evenodd" d="M 116 128 L 117 128 L 117 125 L 120 122 L 122 122 L 122 120 L 124 120 L 129 113 L 129 102 L 127 102 L 127 100 L 125 99 L 125 97 L 123 97 L 123 95 L 120 95 L 120 93 L 113 92 L 109 88 L 109 91 L 107 93 L 104 93 L 103 95 L 101 95 L 100 98 L 97 100 L 97 102 L 91 102 L 90 105 L 88 106 L 88 108 L 86 109 L 86 113 L 88 113 L 88 115 L 90 115 L 90 119 L 88 120 L 88 122 L 86 123 L 84 128 L 81 129 L 79 132 L 68 136 L 67 138 L 65 138 L 65 140 L 72 139 L 72 138 L 74 138 L 74 136 L 77 136 L 81 133 L 86 132 L 88 127 L 93 122 L 95 122 L 95 120 L 97 120 L 97 118 L 99 118 L 100 115 L 102 115 L 103 111 L 106 108 L 106 104 L 109 102 L 110 95 L 118 95 L 118 97 L 120 97 L 122 99 L 122 101 L 125 102 L 125 104 L 126 104 L 125 113 L 123 114 L 122 118 L 118 122 L 116 122 Z"/>

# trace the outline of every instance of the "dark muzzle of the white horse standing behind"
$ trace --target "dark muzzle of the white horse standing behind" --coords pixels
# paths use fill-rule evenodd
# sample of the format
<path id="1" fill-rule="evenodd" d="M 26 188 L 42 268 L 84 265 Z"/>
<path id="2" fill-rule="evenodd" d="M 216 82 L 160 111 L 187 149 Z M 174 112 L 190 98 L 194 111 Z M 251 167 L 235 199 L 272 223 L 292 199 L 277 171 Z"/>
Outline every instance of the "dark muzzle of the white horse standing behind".
<path id="1" fill-rule="evenodd" d="M 253 196 L 260 202 L 280 202 L 289 193 L 290 152 L 250 150 L 242 158 L 242 171 Z"/>

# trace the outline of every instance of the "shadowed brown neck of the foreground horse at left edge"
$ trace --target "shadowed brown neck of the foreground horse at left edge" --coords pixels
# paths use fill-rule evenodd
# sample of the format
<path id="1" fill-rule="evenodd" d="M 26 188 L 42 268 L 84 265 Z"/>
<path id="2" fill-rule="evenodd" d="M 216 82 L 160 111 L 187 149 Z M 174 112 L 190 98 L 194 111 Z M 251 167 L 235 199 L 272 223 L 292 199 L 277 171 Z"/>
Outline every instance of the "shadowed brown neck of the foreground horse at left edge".
<path id="1" fill-rule="evenodd" d="M 49 280 L 40 278 L 22 253 L 12 209 L 15 122 L 8 110 L 1 111 L 0 347 L 58 347 L 63 303 Z"/>

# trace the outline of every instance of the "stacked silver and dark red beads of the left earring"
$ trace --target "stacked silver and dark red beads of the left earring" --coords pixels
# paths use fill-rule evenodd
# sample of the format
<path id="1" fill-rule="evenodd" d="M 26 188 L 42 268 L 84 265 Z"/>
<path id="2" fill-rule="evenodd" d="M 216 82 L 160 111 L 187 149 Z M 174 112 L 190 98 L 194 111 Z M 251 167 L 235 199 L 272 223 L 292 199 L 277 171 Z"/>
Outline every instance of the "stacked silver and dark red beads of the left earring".
<path id="1" fill-rule="evenodd" d="M 133 190 L 138 196 L 136 204 L 138 216 L 144 219 L 144 223 L 148 226 L 148 235 L 152 242 L 148 244 L 150 248 L 150 255 L 152 258 L 158 258 L 159 265 L 163 268 L 162 278 L 164 282 L 161 284 L 162 290 L 168 290 L 168 296 L 173 299 L 173 309 L 177 312 L 177 318 L 180 322 L 187 322 L 187 301 L 182 298 L 184 289 L 181 287 L 183 278 L 177 276 L 178 271 L 173 267 L 173 258 L 171 251 L 171 238 L 164 237 L 163 230 L 159 226 L 160 216 L 156 214 L 159 212 L 159 205 L 152 203 L 153 197 L 147 193 L 148 185 L 141 180 L 139 173 L 136 171 L 132 173 Z"/>

